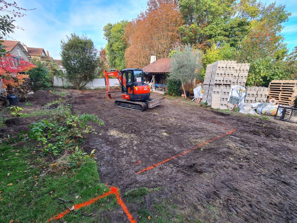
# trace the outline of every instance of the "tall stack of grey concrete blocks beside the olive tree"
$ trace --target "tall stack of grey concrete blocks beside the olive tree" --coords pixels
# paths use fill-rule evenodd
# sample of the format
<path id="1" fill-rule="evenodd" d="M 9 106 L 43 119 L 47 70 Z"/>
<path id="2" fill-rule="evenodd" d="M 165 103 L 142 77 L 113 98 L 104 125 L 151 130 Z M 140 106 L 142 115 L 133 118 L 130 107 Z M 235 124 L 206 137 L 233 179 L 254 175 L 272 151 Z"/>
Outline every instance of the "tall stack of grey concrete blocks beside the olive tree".
<path id="1" fill-rule="evenodd" d="M 206 67 L 202 102 L 212 108 L 227 109 L 231 85 L 245 86 L 249 73 L 248 63 L 219 60 Z"/>

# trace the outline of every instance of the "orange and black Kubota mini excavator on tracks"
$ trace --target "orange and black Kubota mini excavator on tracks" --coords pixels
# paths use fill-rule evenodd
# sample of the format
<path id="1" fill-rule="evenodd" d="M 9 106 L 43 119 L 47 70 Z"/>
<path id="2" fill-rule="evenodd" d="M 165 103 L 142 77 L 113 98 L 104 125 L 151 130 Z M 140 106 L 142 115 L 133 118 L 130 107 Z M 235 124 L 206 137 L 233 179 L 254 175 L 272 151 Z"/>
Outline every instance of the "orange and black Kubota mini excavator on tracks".
<path id="1" fill-rule="evenodd" d="M 161 104 L 165 97 L 150 99 L 150 88 L 143 81 L 143 70 L 141 69 L 124 69 L 124 70 L 104 70 L 106 98 L 113 100 L 110 93 L 109 77 L 116 77 L 122 89 L 122 98 L 115 100 L 114 104 L 117 107 L 124 109 L 132 109 L 144 111 Z"/>

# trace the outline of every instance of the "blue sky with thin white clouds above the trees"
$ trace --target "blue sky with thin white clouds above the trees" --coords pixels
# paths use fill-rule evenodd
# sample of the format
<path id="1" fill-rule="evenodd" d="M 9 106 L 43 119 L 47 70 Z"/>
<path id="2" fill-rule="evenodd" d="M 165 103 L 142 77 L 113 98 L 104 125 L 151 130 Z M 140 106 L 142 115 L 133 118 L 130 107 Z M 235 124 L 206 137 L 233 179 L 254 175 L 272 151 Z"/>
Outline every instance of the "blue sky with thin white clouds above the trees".
<path id="1" fill-rule="evenodd" d="M 60 59 L 60 40 L 66 35 L 87 34 L 99 49 L 104 47 L 103 26 L 123 19 L 136 18 L 146 8 L 147 0 L 15 0 L 25 8 L 36 8 L 26 12 L 27 16 L 17 18 L 18 29 L 11 35 L 13 39 L 29 47 L 48 50 L 54 59 Z M 264 0 L 266 3 L 273 1 Z M 280 1 L 287 11 L 292 13 L 284 24 L 285 36 L 290 51 L 297 45 L 297 1 Z"/>

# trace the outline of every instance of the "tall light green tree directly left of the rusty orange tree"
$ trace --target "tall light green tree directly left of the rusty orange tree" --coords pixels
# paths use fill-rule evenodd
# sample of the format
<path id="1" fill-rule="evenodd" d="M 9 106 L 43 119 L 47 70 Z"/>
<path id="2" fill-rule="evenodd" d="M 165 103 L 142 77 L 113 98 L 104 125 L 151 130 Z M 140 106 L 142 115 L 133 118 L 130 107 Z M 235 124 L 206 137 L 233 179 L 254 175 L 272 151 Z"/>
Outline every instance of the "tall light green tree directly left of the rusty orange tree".
<path id="1" fill-rule="evenodd" d="M 125 68 L 126 43 L 123 40 L 127 20 L 122 20 L 115 24 L 108 23 L 104 26 L 104 36 L 107 40 L 105 46 L 110 67 L 122 70 Z"/>

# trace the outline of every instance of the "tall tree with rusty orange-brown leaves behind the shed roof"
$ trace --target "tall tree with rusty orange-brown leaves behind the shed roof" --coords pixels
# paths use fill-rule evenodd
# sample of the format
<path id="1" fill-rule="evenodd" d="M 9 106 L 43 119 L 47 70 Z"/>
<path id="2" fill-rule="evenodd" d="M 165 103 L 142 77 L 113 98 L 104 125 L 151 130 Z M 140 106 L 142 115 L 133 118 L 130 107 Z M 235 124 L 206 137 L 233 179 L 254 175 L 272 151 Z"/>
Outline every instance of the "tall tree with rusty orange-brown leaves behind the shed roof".
<path id="1" fill-rule="evenodd" d="M 177 27 L 182 18 L 176 1 L 149 0 L 147 10 L 129 22 L 125 28 L 124 40 L 126 67 L 144 67 L 149 63 L 149 55 L 158 58 L 168 54 L 180 40 Z"/>

